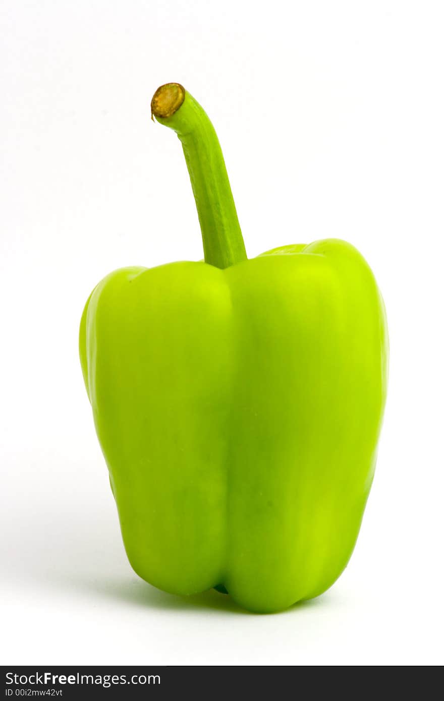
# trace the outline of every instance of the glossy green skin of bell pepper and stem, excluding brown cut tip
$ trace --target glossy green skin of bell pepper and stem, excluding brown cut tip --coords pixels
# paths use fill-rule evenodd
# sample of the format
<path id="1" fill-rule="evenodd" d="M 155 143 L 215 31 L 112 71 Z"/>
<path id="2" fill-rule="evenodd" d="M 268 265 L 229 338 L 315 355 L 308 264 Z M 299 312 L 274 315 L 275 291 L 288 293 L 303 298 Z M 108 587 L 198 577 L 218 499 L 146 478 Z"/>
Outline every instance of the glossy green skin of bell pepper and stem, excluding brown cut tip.
<path id="1" fill-rule="evenodd" d="M 207 262 L 108 275 L 83 311 L 81 366 L 135 572 L 279 611 L 327 590 L 356 543 L 386 398 L 384 303 L 341 240 L 246 259 L 217 137 L 194 111 L 208 128 L 189 93 L 158 121 L 199 142 L 184 151 L 195 197 L 206 180 Z"/>

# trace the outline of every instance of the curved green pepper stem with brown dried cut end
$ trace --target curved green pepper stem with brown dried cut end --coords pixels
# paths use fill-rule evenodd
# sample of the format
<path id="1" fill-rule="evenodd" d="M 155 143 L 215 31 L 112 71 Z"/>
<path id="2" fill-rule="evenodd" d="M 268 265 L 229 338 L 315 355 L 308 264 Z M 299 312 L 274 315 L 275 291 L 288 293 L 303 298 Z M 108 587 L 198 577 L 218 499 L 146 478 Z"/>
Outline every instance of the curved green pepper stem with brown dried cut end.
<path id="1" fill-rule="evenodd" d="M 228 268 L 246 260 L 224 156 L 206 112 L 179 83 L 158 88 L 151 111 L 152 117 L 173 129 L 182 142 L 206 263 Z"/>

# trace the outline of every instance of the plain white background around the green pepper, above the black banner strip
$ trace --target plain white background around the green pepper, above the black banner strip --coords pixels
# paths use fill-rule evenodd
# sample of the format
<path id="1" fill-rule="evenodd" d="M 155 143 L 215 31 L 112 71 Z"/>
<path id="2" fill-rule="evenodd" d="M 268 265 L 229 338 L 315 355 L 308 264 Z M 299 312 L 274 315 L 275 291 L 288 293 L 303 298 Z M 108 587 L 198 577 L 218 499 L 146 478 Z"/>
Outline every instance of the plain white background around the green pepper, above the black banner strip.
<path id="1" fill-rule="evenodd" d="M 4 0 L 1 27 L 1 662 L 443 662 L 443 4 Z M 137 578 L 83 387 L 98 280 L 202 257 L 180 144 L 149 121 L 168 81 L 217 128 L 248 254 L 345 238 L 386 301 L 354 556 L 276 615 Z"/>

